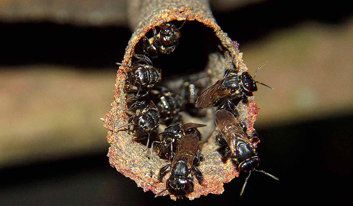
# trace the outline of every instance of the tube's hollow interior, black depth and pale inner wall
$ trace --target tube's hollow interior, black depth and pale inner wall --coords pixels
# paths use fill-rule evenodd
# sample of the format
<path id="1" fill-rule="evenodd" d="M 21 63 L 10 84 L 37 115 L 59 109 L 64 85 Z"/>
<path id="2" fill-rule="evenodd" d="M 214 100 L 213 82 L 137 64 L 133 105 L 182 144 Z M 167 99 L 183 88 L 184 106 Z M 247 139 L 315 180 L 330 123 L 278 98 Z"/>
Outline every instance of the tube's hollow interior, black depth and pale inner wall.
<path id="1" fill-rule="evenodd" d="M 173 20 L 169 23 L 180 27 L 184 21 Z M 157 33 L 160 28 L 156 27 Z M 187 21 L 180 29 L 181 37 L 179 44 L 174 52 L 169 55 L 161 55 L 151 59 L 153 66 L 161 69 L 162 80 L 160 86 L 170 89 L 175 94 L 183 98 L 182 91 L 185 82 L 194 83 L 199 89 L 198 94 L 209 87 L 212 83 L 219 80 L 225 69 L 233 68 L 231 59 L 226 60 L 225 55 L 221 51 L 222 45 L 220 40 L 214 35 L 211 28 L 205 27 L 204 24 L 197 21 Z M 145 35 L 148 38 L 153 36 L 152 30 Z M 135 48 L 136 53 L 143 53 L 142 40 L 140 40 Z M 185 99 L 184 99 L 185 100 Z M 215 129 L 214 124 L 214 108 L 209 107 L 200 110 L 199 114 L 190 114 L 180 111 L 183 123 L 200 123 L 207 126 L 200 127 L 198 130 L 202 134 L 202 142 L 207 141 L 208 137 Z M 160 125 L 158 132 L 162 132 L 165 125 Z"/>

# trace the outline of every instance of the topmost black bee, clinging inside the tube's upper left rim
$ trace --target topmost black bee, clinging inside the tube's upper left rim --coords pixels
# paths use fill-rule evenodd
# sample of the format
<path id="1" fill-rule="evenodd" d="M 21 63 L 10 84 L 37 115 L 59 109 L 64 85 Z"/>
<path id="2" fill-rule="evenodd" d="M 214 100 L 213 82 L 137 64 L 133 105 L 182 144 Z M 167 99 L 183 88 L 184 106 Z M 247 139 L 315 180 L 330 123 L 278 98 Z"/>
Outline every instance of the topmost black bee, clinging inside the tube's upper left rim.
<path id="1" fill-rule="evenodd" d="M 165 23 L 160 26 L 158 34 L 156 28 L 152 28 L 153 36 L 150 39 L 145 36 L 142 38 L 143 52 L 152 59 L 162 54 L 174 52 L 181 37 L 180 29 L 186 23 L 187 18 L 189 18 L 189 15 L 179 28 L 175 27 L 174 24 Z"/>

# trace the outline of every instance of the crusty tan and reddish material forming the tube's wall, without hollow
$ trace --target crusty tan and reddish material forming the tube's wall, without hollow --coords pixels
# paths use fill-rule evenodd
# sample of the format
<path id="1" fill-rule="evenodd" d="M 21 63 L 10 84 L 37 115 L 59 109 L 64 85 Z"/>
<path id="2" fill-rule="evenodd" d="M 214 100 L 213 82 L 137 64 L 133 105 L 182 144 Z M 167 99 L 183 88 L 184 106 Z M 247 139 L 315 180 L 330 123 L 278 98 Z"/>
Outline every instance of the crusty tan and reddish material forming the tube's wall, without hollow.
<path id="1" fill-rule="evenodd" d="M 239 69 L 239 72 L 247 70 L 242 60 L 242 53 L 239 52 L 238 43 L 232 41 L 217 25 L 210 11 L 208 1 L 133 1 L 130 5 L 129 13 L 131 14 L 130 25 L 136 27 L 136 29 L 126 47 L 123 64 L 131 65 L 131 57 L 137 42 L 150 29 L 172 20 L 185 20 L 189 15 L 188 21 L 198 21 L 204 24 L 205 27 L 210 27 L 222 44 L 220 52 L 209 54 L 209 64 L 205 68 L 207 75 L 211 79 L 208 86 L 223 78 L 222 75 L 225 69 L 231 68 L 233 65 Z M 183 32 L 187 31 L 183 30 Z M 104 126 L 109 130 L 107 141 L 110 143 L 110 147 L 107 156 L 109 157 L 110 165 L 126 177 L 134 180 L 138 187 L 142 187 L 145 192 L 150 190 L 157 194 L 166 187 L 165 182 L 169 177 L 169 173 L 164 176 L 162 182 L 158 182 L 157 175 L 159 169 L 166 165 L 168 161 L 162 160 L 158 156 L 148 158 L 149 152 L 143 151 L 144 145 L 133 141 L 132 136 L 125 131 L 116 130 L 116 128 L 127 123 L 125 114 L 126 98 L 123 91 L 126 72 L 128 72 L 128 68 L 120 66 L 116 74 L 112 108 L 103 118 Z M 249 98 L 249 103 L 243 104 L 241 102 L 238 105 L 238 110 L 240 118 L 243 122 L 246 122 L 247 133 L 251 134 L 259 107 L 253 102 L 253 98 Z M 214 112 L 210 111 L 208 116 L 210 124 L 207 127 L 213 130 Z M 217 132 L 214 131 L 211 136 L 207 136 L 201 145 L 203 160 L 198 168 L 203 173 L 204 182 L 203 186 L 201 186 L 194 178 L 194 191 L 186 195 L 190 200 L 209 193 L 221 194 L 224 191 L 223 183 L 229 182 L 239 175 L 239 171 L 232 161 L 228 159 L 227 162 L 223 162 L 221 154 L 217 152 L 218 145 L 214 139 Z M 256 143 L 254 142 L 254 145 Z M 166 191 L 161 195 L 168 194 L 169 192 Z M 174 195 L 170 195 L 170 197 L 172 199 L 176 198 Z"/>

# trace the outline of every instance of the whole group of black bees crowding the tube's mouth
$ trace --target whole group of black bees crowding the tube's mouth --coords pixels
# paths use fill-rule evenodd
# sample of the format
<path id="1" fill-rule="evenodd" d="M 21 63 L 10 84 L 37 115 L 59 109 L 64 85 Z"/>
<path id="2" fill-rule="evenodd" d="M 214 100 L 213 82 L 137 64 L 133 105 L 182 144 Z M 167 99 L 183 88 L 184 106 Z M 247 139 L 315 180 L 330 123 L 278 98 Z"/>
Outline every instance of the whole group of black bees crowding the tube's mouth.
<path id="1" fill-rule="evenodd" d="M 239 171 L 248 174 L 240 195 L 252 171 L 263 172 L 278 179 L 256 169 L 260 158 L 251 139 L 258 138 L 257 133 L 254 130 L 251 136 L 246 135 L 246 126 L 239 120 L 236 109 L 240 101 L 247 101 L 247 97 L 257 91 L 256 83 L 263 84 L 254 80 L 256 72 L 262 65 L 255 71 L 254 77 L 248 72 L 238 74 L 236 69 L 229 69 L 224 73 L 222 80 L 202 93 L 203 88 L 191 81 L 183 84 L 179 94 L 159 86 L 162 80 L 161 70 L 153 65 L 151 59 L 174 52 L 181 37 L 180 29 L 186 21 L 187 18 L 179 28 L 171 23 L 156 27 L 158 32 L 153 28 L 152 37 L 142 38 L 143 54 L 135 52 L 131 66 L 116 63 L 130 69 L 127 73 L 125 92 L 128 97 L 127 103 L 130 105 L 127 114 L 131 114 L 131 117 L 128 123 L 118 130 L 127 131 L 136 141 L 146 139 L 145 151 L 151 137 L 157 136 L 157 141 L 151 143 L 151 158 L 155 146 L 160 158 L 170 160 L 170 164 L 163 166 L 158 174 L 159 181 L 162 181 L 162 177 L 170 167 L 166 189 L 155 197 L 168 190 L 177 198 L 183 198 L 193 191 L 192 175 L 195 175 L 198 183 L 202 185 L 202 172 L 197 168 L 197 165 L 202 163 L 199 148 L 201 133 L 197 128 L 206 125 L 183 123 L 179 112 L 185 111 L 191 116 L 201 117 L 205 114 L 202 109 L 211 105 L 217 107 L 215 123 L 220 133 L 216 136 L 216 140 L 223 157 L 231 157 Z M 160 123 L 166 125 L 166 128 L 164 132 L 156 134 Z"/>

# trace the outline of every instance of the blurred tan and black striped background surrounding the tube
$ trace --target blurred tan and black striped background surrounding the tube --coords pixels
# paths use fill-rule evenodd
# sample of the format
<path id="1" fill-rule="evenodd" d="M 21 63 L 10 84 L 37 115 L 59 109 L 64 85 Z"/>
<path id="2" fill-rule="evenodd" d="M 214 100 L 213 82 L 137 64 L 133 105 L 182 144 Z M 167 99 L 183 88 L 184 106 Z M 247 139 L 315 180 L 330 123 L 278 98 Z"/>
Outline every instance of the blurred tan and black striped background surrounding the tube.
<path id="1" fill-rule="evenodd" d="M 260 169 L 193 201 L 153 198 L 109 166 L 100 120 L 131 36 L 127 1 L 0 1 L 4 205 L 271 204 L 341 200 L 352 174 L 353 9 L 337 1 L 210 1 L 258 72 Z M 326 195 L 326 196 L 325 196 Z"/>

